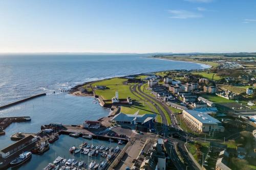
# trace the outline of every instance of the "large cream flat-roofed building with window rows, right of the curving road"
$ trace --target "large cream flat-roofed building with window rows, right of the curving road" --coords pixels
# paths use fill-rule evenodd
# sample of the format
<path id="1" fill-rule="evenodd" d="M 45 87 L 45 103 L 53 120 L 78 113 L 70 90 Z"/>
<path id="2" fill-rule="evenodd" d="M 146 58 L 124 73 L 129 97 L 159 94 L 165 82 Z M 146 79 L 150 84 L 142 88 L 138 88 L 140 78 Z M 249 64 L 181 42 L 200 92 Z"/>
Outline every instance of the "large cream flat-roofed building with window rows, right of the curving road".
<path id="1" fill-rule="evenodd" d="M 224 132 L 221 122 L 206 113 L 196 110 L 183 110 L 183 117 L 200 132 L 220 131 Z"/>

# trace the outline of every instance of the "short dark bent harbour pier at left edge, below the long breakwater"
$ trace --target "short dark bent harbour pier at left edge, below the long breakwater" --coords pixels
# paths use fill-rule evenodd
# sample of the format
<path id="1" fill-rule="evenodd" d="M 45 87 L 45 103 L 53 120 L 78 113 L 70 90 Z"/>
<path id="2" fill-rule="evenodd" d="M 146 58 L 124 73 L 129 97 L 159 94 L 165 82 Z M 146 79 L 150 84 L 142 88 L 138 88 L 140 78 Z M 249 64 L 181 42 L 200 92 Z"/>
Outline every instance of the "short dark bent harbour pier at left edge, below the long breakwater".
<path id="1" fill-rule="evenodd" d="M 21 116 L 21 117 L 1 117 L 0 118 L 0 135 L 5 134 L 5 129 L 14 122 L 27 122 L 30 121 L 31 118 L 29 116 Z"/>

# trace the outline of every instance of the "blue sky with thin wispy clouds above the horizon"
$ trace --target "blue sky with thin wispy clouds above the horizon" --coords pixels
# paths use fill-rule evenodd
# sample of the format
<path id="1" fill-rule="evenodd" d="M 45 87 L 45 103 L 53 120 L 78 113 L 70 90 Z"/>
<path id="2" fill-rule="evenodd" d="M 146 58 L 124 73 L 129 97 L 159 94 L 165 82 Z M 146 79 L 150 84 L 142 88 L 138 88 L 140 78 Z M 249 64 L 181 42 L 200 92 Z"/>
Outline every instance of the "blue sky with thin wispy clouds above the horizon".
<path id="1" fill-rule="evenodd" d="M 2 0 L 12 52 L 256 52 L 256 1 Z"/>

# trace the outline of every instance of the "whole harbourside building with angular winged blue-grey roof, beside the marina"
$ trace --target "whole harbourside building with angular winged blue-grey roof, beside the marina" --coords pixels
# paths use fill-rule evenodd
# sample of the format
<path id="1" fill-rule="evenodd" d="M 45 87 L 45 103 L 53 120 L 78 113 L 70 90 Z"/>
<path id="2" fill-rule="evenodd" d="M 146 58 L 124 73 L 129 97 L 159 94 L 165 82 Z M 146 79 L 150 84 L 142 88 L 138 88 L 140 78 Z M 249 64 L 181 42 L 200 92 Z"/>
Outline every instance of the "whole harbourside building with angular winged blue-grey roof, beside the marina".
<path id="1" fill-rule="evenodd" d="M 130 124 L 130 125 L 143 125 L 146 127 L 152 127 L 155 123 L 156 114 L 116 114 L 112 121 L 117 124 Z"/>

